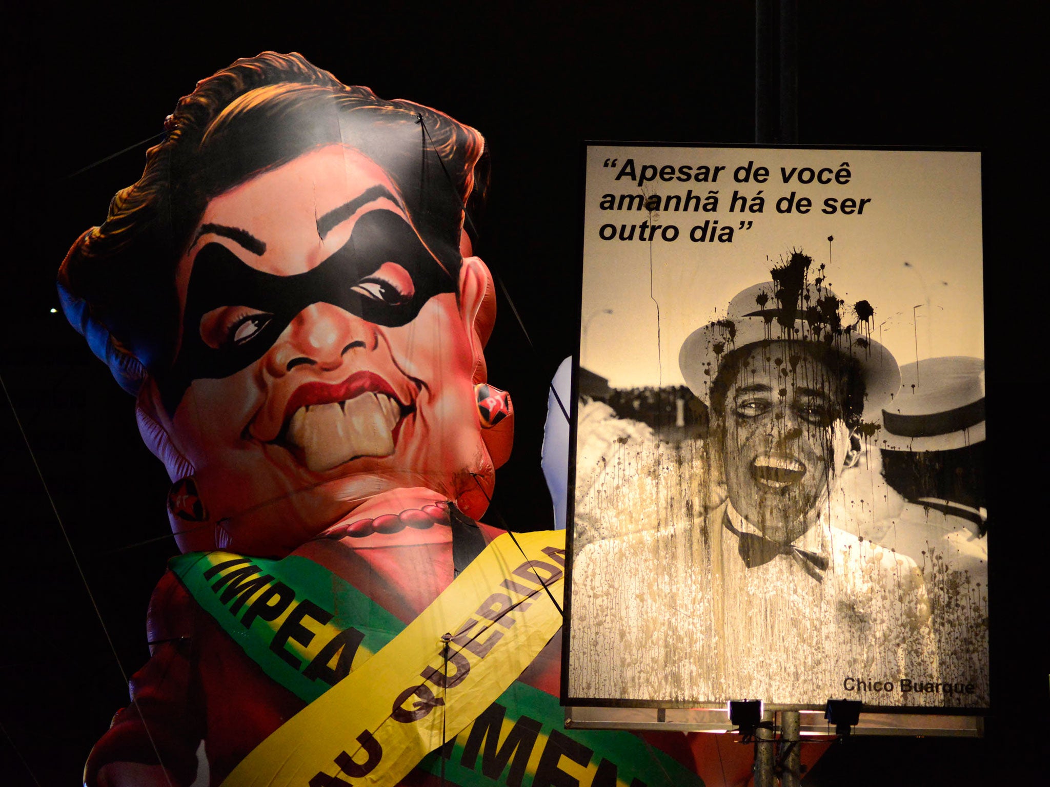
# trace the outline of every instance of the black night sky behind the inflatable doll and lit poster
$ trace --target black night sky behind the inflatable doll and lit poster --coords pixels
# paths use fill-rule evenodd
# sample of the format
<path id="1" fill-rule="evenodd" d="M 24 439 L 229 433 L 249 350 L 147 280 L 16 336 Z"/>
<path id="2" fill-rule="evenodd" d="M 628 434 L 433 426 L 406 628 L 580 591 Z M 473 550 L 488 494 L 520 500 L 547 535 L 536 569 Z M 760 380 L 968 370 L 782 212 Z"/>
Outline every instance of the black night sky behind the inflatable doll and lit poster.
<path id="1" fill-rule="evenodd" d="M 114 651 L 129 674 L 147 658 L 146 602 L 174 552 L 167 475 L 139 438 L 131 399 L 50 310 L 69 244 L 138 178 L 146 142 L 198 79 L 264 49 L 296 50 L 348 84 L 437 107 L 485 134 L 491 189 L 476 217 L 476 253 L 531 340 L 501 294 L 489 379 L 514 397 L 518 423 L 494 505 L 521 530 L 551 520 L 540 445 L 547 381 L 576 344 L 581 142 L 755 142 L 749 2 L 224 5 L 70 12 L 34 2 L 4 12 L 0 375 L 47 485 L 0 398 L 5 785 L 79 784 L 92 743 L 127 703 Z M 982 741 L 852 741 L 805 783 L 1030 781 L 1046 771 L 1029 719 L 1048 700 L 1037 645 L 1046 545 L 1032 537 L 1046 517 L 1045 371 L 1035 360 L 1047 277 L 1023 240 L 1042 182 L 1026 22 L 1006 3 L 799 6 L 801 144 L 985 151 L 996 703 Z"/>

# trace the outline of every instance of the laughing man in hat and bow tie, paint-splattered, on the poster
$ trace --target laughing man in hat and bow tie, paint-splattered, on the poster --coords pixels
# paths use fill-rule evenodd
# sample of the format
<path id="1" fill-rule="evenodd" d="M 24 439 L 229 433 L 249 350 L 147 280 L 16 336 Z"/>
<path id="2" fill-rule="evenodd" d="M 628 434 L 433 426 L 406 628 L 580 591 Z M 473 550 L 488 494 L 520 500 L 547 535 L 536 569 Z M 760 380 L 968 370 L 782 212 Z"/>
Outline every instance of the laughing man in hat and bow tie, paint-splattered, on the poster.
<path id="1" fill-rule="evenodd" d="M 587 607 L 573 596 L 574 696 L 823 703 L 858 676 L 938 679 L 916 563 L 831 520 L 830 493 L 900 371 L 858 331 L 870 306 L 850 324 L 820 279 L 807 282 L 810 261 L 793 255 L 682 344 L 686 383 L 711 411 L 714 490 L 692 518 L 578 556 L 581 586 L 601 590 Z M 617 650 L 631 661 L 610 661 Z"/>

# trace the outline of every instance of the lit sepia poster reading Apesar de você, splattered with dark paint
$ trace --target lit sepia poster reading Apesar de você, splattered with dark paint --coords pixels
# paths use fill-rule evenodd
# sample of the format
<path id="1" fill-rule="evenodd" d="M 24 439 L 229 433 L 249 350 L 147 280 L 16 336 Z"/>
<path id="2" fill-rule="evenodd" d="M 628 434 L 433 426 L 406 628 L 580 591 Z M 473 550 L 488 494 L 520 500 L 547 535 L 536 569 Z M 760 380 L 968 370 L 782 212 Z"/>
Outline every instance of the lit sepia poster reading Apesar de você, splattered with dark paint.
<path id="1" fill-rule="evenodd" d="M 988 707 L 981 155 L 592 144 L 579 704 Z"/>

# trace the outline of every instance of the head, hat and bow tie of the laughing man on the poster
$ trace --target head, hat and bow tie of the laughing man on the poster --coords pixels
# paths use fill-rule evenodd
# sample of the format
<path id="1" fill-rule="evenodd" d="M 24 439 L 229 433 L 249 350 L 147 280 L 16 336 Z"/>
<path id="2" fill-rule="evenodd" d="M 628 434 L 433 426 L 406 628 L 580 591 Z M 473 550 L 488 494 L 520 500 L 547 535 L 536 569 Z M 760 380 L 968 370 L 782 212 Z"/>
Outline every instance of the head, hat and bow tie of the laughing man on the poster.
<path id="1" fill-rule="evenodd" d="M 859 455 L 859 427 L 888 406 L 900 371 L 860 319 L 845 324 L 833 292 L 796 280 L 737 294 L 724 319 L 686 339 L 678 363 L 711 409 L 712 469 L 740 556 L 749 568 L 790 557 L 815 574 L 826 545 L 812 553 L 797 541 L 826 518 L 832 490 Z"/>

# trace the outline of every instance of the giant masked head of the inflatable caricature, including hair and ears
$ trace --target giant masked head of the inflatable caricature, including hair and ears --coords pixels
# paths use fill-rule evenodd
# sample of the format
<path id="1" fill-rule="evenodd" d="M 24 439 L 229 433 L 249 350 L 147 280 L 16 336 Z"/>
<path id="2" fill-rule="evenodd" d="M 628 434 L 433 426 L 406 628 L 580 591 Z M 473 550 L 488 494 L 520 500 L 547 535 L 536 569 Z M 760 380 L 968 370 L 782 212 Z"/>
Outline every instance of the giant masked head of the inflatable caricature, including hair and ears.
<path id="1" fill-rule="evenodd" d="M 198 83 L 165 129 L 59 290 L 136 395 L 180 548 L 284 554 L 398 488 L 480 516 L 511 428 L 483 430 L 475 392 L 481 135 L 273 52 Z"/>

